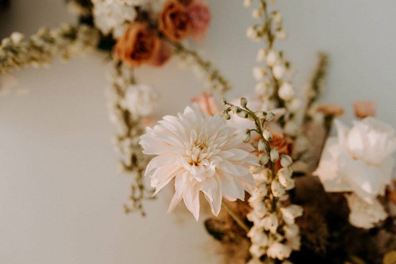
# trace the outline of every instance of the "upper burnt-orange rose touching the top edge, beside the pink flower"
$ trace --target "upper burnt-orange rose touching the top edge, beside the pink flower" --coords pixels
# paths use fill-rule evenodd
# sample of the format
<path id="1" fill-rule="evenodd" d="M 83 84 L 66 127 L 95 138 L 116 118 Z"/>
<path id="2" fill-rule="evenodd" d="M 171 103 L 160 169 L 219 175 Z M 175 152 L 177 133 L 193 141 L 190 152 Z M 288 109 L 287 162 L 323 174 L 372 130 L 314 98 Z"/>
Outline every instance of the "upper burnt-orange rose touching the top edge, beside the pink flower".
<path id="1" fill-rule="evenodd" d="M 191 34 L 187 8 L 176 0 L 165 3 L 158 18 L 158 28 L 169 40 L 178 42 Z"/>

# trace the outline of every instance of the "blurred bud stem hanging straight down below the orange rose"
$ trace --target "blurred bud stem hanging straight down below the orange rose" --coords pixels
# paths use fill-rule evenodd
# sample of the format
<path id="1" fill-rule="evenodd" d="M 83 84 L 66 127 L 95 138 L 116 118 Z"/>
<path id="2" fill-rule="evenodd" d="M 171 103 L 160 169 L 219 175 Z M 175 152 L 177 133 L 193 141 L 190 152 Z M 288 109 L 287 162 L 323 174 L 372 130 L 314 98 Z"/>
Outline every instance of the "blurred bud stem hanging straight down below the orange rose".
<path id="1" fill-rule="evenodd" d="M 108 89 L 108 108 L 110 120 L 115 125 L 117 133 L 113 138 L 116 150 L 121 158 L 118 173 L 133 175 L 131 184 L 132 207 L 124 205 L 127 213 L 140 211 L 144 215 L 143 200 L 151 198 L 152 192 L 144 184 L 144 172 L 150 161 L 148 155 L 142 153 L 139 143 L 140 136 L 145 132 L 144 117 L 131 111 L 125 103 L 128 90 L 133 84 L 133 71 L 130 67 L 114 62 L 114 70 L 110 75 L 111 85 Z M 148 92 L 148 91 L 147 91 Z"/>

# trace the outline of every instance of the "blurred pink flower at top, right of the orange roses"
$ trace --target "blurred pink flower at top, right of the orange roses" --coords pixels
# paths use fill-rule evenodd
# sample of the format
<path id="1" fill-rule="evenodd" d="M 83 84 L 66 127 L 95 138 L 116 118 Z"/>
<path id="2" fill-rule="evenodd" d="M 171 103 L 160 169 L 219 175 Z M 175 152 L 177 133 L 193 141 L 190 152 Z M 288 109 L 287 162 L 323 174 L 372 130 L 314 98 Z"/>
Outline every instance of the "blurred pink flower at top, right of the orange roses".
<path id="1" fill-rule="evenodd" d="M 190 18 L 192 35 L 201 39 L 209 27 L 211 14 L 206 3 L 193 1 L 187 8 L 187 14 Z"/>

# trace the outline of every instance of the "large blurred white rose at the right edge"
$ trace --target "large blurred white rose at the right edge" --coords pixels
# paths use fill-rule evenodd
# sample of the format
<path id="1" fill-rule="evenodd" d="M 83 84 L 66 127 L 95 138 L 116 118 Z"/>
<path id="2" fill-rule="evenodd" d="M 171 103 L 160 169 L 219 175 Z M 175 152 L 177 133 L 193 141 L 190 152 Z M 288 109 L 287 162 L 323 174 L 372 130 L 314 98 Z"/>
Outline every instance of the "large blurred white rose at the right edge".
<path id="1" fill-rule="evenodd" d="M 338 138 L 328 139 L 314 174 L 327 192 L 352 191 L 374 206 L 391 183 L 395 130 L 374 117 L 355 121 L 352 129 L 338 120 L 335 124 Z"/>

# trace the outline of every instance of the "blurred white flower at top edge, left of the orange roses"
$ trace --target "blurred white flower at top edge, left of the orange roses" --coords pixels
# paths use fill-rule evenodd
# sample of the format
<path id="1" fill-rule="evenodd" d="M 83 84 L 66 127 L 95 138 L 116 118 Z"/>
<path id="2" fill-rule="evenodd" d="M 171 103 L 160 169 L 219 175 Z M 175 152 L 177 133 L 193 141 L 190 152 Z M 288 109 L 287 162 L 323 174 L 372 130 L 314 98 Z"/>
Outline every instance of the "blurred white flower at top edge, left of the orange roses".
<path id="1" fill-rule="evenodd" d="M 123 0 L 92 0 L 95 26 L 104 35 L 119 38 L 136 18 L 135 8 Z"/>

